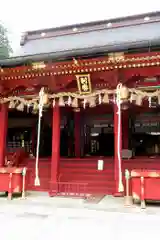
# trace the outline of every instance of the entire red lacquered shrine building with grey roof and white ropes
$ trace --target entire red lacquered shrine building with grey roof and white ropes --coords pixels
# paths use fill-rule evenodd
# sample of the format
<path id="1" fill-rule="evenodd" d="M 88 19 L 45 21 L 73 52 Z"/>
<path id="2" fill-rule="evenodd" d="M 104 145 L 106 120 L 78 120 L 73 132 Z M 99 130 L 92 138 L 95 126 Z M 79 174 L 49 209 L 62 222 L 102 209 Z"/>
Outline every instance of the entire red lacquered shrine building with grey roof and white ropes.
<path id="1" fill-rule="evenodd" d="M 156 12 L 26 32 L 0 61 L 0 167 L 14 156 L 52 196 L 124 194 L 125 169 L 160 169 L 159 27 Z"/>

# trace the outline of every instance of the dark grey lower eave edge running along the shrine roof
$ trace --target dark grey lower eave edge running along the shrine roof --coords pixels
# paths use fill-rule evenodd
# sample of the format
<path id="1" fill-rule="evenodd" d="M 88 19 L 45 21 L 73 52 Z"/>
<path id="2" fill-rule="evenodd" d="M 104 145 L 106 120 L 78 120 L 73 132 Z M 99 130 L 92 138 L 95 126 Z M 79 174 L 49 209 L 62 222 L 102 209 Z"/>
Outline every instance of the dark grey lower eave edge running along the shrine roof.
<path id="1" fill-rule="evenodd" d="M 16 56 L 10 57 L 7 59 L 0 60 L 1 67 L 14 67 L 16 65 L 23 65 L 28 62 L 36 62 L 36 61 L 60 61 L 65 60 L 71 57 L 77 56 L 85 56 L 85 55 L 95 55 L 96 53 L 104 53 L 104 52 L 116 52 L 116 51 L 126 51 L 128 48 L 136 49 L 136 48 L 145 48 L 160 45 L 160 38 L 153 39 L 151 41 L 144 40 L 140 42 L 128 42 L 125 44 L 119 45 L 106 45 L 106 46 L 96 46 L 91 48 L 81 48 L 81 49 L 73 49 L 69 51 L 59 51 L 59 52 L 51 52 L 51 53 L 42 53 L 35 55 L 26 55 L 26 56 Z"/>

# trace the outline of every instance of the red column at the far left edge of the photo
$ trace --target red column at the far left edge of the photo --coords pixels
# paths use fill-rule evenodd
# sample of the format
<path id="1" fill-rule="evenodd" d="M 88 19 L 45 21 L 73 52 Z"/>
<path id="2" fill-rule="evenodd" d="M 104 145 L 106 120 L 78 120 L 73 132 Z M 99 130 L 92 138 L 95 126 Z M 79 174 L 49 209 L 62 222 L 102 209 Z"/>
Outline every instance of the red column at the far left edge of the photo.
<path id="1" fill-rule="evenodd" d="M 6 138 L 8 130 L 8 106 L 0 105 L 0 167 L 4 165 L 6 154 Z"/>

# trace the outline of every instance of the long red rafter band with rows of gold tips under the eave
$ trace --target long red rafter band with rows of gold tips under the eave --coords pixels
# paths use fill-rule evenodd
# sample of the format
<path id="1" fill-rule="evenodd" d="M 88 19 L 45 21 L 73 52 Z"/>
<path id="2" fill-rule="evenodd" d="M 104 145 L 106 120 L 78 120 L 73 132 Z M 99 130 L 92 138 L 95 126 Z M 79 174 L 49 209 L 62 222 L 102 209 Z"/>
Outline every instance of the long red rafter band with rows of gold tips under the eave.
<path id="1" fill-rule="evenodd" d="M 110 56 L 70 60 L 68 62 L 45 63 L 42 68 L 35 69 L 33 65 L 21 66 L 15 68 L 1 69 L 0 76 L 2 80 L 11 78 L 16 79 L 32 78 L 33 76 L 50 75 L 70 75 L 84 72 L 108 71 L 117 68 L 134 68 L 160 65 L 160 52 L 149 52 L 139 54 L 125 54 L 119 60 L 110 58 Z"/>

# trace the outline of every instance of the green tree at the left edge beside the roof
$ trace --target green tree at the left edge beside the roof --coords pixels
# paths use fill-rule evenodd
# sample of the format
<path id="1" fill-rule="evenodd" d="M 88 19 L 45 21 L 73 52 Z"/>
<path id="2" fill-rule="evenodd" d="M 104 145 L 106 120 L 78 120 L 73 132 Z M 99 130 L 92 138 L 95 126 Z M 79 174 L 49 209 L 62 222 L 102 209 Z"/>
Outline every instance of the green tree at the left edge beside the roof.
<path id="1" fill-rule="evenodd" d="M 0 59 L 8 58 L 12 48 L 8 39 L 8 30 L 0 23 Z"/>

